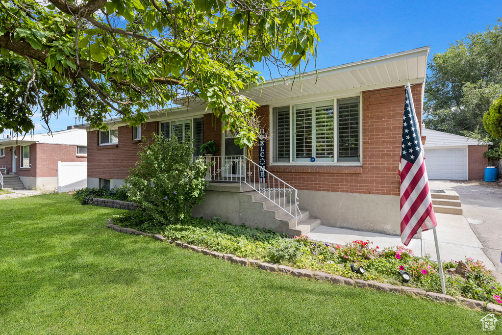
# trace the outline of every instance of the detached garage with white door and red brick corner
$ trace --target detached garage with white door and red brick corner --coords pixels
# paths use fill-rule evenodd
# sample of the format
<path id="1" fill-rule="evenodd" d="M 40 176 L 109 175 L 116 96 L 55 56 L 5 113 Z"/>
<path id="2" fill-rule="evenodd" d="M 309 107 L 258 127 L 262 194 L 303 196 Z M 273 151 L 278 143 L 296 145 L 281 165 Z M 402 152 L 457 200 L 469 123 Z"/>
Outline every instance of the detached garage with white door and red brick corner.
<path id="1" fill-rule="evenodd" d="M 422 128 L 425 165 L 429 179 L 475 180 L 484 178 L 491 142 Z"/>

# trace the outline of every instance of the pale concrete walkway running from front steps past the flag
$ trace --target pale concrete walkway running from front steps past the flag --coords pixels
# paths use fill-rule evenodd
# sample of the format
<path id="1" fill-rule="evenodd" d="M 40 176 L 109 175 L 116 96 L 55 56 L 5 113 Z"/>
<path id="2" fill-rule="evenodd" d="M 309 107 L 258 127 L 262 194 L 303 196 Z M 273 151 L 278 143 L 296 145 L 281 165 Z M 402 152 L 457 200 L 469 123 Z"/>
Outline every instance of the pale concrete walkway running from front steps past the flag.
<path id="1" fill-rule="evenodd" d="M 483 245 L 469 227 L 469 223 L 462 215 L 437 213 L 438 227 L 436 229 L 439 241 L 439 251 L 443 261 L 459 261 L 465 257 L 483 261 L 490 270 L 495 269 L 493 263 L 484 254 Z M 403 246 L 401 237 L 369 232 L 352 231 L 348 229 L 320 226 L 308 234 L 312 239 L 327 243 L 345 244 L 355 240 L 370 240 L 373 247 Z M 436 247 L 432 231 L 422 233 L 421 239 L 413 239 L 408 248 L 413 250 L 416 256 L 431 255 L 433 261 L 437 261 Z"/>

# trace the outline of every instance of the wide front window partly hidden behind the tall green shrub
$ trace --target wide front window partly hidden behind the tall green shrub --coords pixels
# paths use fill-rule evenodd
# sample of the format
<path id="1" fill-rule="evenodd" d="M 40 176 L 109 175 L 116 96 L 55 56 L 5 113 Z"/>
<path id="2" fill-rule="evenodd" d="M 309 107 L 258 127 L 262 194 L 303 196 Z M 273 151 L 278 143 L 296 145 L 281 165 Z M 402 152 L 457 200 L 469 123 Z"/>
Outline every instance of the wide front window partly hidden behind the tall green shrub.
<path id="1" fill-rule="evenodd" d="M 160 132 L 164 138 L 175 136 L 178 142 L 184 143 L 193 139 L 192 146 L 195 148 L 195 156 L 200 156 L 200 146 L 204 141 L 203 118 L 187 119 L 180 121 L 163 122 L 160 124 Z"/>

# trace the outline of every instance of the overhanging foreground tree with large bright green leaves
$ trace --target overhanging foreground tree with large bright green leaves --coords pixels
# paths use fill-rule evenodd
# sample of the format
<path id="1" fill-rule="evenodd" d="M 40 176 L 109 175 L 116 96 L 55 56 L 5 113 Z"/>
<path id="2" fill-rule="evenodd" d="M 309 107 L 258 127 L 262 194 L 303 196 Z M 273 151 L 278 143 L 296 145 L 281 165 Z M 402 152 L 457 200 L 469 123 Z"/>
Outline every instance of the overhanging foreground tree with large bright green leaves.
<path id="1" fill-rule="evenodd" d="M 91 127 L 193 99 L 240 145 L 259 136 L 242 92 L 256 63 L 298 73 L 315 59 L 315 7 L 301 0 L 0 0 L 0 132 L 48 126 L 63 110 Z"/>

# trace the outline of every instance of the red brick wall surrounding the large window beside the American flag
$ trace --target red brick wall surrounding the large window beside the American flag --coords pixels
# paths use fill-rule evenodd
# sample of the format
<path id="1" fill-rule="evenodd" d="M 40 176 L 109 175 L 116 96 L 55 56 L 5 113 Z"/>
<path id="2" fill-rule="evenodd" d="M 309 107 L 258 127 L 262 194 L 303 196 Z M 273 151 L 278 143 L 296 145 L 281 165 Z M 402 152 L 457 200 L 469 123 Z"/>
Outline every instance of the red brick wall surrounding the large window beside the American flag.
<path id="1" fill-rule="evenodd" d="M 417 118 L 421 122 L 423 84 L 411 88 Z M 362 167 L 270 166 L 270 153 L 267 153 L 268 170 L 302 190 L 399 195 L 404 104 L 404 86 L 363 91 Z M 264 117 L 263 127 L 268 131 L 268 108 L 260 115 Z"/>

